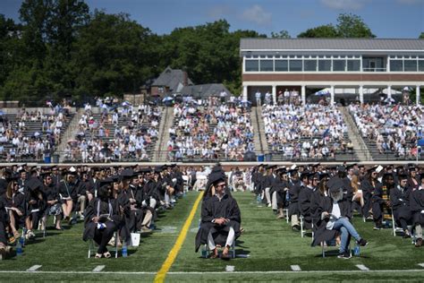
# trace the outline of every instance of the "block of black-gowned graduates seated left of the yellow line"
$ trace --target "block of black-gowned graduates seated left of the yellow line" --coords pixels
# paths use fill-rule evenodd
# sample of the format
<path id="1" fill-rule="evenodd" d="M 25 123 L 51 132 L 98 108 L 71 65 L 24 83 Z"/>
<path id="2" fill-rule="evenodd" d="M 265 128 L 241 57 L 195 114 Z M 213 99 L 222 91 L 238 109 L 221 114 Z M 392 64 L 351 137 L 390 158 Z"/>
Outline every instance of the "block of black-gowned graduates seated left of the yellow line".
<path id="1" fill-rule="evenodd" d="M 172 209 L 195 171 L 160 167 L 28 167 L 0 169 L 0 255 L 21 238 L 84 221 L 83 239 L 98 244 L 96 258 L 110 257 L 106 245 L 129 243 L 132 232 L 151 233 L 157 211 Z M 186 188 L 185 188 L 186 189 Z M 20 233 L 19 231 L 22 230 Z M 38 236 L 40 236 L 38 234 Z"/>

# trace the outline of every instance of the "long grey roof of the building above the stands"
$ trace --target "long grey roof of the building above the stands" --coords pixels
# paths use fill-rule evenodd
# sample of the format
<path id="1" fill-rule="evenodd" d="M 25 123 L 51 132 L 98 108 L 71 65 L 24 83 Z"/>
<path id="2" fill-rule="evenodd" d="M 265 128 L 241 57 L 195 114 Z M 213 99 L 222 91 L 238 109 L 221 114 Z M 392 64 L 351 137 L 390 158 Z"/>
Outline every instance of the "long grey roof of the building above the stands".
<path id="1" fill-rule="evenodd" d="M 241 39 L 240 51 L 385 50 L 424 51 L 424 39 Z"/>

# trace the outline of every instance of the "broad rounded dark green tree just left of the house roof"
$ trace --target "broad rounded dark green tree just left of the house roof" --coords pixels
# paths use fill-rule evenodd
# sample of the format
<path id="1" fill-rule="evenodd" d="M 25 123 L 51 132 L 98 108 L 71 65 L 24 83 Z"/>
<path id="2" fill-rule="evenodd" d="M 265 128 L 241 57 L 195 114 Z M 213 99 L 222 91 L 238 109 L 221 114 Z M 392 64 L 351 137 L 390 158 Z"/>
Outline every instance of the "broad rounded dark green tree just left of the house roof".
<path id="1" fill-rule="evenodd" d="M 151 77 L 157 56 L 150 30 L 128 14 L 96 11 L 74 42 L 72 72 L 79 95 L 122 95 Z"/>

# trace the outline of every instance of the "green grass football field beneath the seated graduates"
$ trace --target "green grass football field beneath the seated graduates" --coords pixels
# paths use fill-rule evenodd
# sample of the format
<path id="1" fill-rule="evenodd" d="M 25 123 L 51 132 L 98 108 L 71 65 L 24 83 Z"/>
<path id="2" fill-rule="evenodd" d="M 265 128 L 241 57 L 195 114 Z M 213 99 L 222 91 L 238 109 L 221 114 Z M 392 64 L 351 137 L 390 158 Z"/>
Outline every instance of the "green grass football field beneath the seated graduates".
<path id="1" fill-rule="evenodd" d="M 360 249 L 360 256 L 351 260 L 340 260 L 334 255 L 321 258 L 321 248 L 310 247 L 310 236 L 301 238 L 285 220 L 277 220 L 272 210 L 259 207 L 251 193 L 234 195 L 246 230 L 237 241 L 236 253 L 244 258 L 226 262 L 203 259 L 200 253 L 194 253 L 198 208 L 166 281 L 422 281 L 424 278 L 424 268 L 419 265 L 424 263 L 424 250 L 415 248 L 410 239 L 392 236 L 391 229 L 374 231 L 372 223 L 353 219 L 360 235 L 369 240 L 369 245 Z M 188 193 L 174 210 L 162 213 L 156 222 L 159 230 L 142 236 L 140 247 L 130 249 L 127 258 L 88 259 L 88 243 L 81 240 L 80 223 L 63 232 L 47 230 L 46 238 L 40 236 L 32 243 L 27 242 L 22 256 L 0 262 L 0 281 L 152 281 L 173 248 L 197 196 L 198 193 Z M 336 254 L 335 247 L 329 250 Z M 365 265 L 369 271 L 360 271 L 357 264 Z M 35 272 L 23 272 L 33 265 L 42 267 Z M 98 265 L 105 265 L 104 270 L 92 272 Z M 232 265 L 235 272 L 226 272 L 227 265 Z M 301 271 L 292 271 L 291 265 L 299 265 Z"/>

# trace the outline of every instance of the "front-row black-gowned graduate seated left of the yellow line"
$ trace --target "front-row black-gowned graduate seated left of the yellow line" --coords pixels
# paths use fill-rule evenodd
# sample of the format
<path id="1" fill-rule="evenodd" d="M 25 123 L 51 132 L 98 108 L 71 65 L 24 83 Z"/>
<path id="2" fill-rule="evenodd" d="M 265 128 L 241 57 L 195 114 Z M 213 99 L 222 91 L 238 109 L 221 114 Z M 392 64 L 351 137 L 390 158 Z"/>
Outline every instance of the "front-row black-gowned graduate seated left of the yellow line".
<path id="1" fill-rule="evenodd" d="M 89 202 L 84 216 L 85 229 L 82 239 L 92 239 L 98 244 L 96 258 L 111 257 L 106 244 L 123 223 L 123 208 L 113 198 L 110 185 L 106 184 L 98 189 L 98 197 Z"/>

